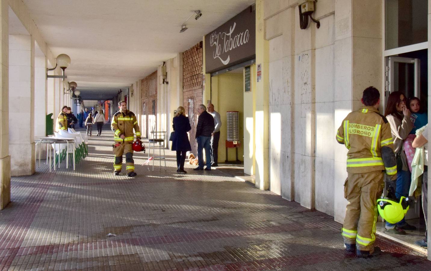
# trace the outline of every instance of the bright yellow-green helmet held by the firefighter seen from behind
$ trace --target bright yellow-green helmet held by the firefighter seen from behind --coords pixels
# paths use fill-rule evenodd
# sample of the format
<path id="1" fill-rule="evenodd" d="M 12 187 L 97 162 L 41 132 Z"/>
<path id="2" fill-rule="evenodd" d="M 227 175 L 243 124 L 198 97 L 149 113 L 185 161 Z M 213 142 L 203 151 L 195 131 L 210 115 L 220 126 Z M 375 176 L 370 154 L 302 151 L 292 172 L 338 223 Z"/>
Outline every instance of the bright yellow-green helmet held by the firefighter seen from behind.
<path id="1" fill-rule="evenodd" d="M 390 224 L 395 224 L 404 218 L 404 215 L 409 210 L 409 204 L 407 203 L 406 197 L 401 197 L 399 202 L 394 199 L 382 197 L 377 200 L 377 209 L 384 220 Z"/>

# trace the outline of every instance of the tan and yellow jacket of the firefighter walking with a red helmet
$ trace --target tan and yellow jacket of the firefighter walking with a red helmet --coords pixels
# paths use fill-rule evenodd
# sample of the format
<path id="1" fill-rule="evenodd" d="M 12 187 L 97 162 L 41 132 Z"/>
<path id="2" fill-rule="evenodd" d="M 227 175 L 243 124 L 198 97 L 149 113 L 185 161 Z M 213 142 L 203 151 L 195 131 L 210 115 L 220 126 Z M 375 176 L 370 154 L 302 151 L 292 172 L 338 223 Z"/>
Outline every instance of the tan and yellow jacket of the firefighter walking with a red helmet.
<path id="1" fill-rule="evenodd" d="M 120 136 L 124 135 L 124 142 L 132 143 L 134 139 L 133 129 L 135 130 L 136 137 L 141 138 L 141 131 L 137 125 L 136 116 L 129 110 L 126 110 L 126 112 L 118 111 L 114 114 L 111 121 L 111 129 L 115 131 L 114 140 L 118 142 L 123 142 Z"/>

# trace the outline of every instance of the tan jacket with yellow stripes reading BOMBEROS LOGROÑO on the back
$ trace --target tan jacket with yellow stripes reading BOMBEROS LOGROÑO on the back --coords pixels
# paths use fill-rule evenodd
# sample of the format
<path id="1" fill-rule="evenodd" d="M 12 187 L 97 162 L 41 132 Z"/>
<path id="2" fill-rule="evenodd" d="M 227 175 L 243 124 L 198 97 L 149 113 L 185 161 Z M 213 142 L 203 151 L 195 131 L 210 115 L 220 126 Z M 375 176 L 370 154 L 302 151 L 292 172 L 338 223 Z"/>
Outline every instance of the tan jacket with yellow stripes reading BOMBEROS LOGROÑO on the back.
<path id="1" fill-rule="evenodd" d="M 394 140 L 386 118 L 374 107 L 365 106 L 349 113 L 338 128 L 336 138 L 349 149 L 347 172 L 386 170 L 388 175 L 397 174 L 397 166 L 385 167 L 381 158 L 381 147 L 394 149 Z"/>

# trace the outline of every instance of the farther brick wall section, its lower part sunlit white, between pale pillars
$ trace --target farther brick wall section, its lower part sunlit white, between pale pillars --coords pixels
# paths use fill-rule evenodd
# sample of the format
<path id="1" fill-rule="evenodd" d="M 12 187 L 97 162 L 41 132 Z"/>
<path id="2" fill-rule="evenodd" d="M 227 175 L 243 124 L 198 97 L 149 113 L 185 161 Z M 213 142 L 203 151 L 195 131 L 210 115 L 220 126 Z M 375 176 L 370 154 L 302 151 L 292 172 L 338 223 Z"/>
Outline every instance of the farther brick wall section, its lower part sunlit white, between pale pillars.
<path id="1" fill-rule="evenodd" d="M 153 100 L 155 101 L 155 108 L 153 115 Z M 148 131 L 151 126 L 156 125 L 157 114 L 157 71 L 151 73 L 149 76 L 141 79 L 141 107 L 145 103 L 145 112 L 142 112 L 143 120 L 141 132 L 143 137 L 148 137 Z"/>

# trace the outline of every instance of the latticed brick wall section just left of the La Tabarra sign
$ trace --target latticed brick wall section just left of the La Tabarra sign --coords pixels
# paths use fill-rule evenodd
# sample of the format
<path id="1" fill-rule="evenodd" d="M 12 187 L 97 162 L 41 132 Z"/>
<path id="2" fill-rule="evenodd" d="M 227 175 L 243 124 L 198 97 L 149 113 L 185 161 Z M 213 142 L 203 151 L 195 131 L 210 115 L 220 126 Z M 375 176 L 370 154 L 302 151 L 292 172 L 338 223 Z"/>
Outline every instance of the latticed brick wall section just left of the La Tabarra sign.
<path id="1" fill-rule="evenodd" d="M 202 104 L 203 91 L 203 48 L 202 42 L 183 53 L 183 106 L 190 119 L 190 144 L 192 153 L 197 154 L 197 143 L 194 139 L 197 124 L 197 106 Z M 191 108 L 189 108 L 191 104 Z M 190 111 L 189 111 L 190 110 Z"/>

